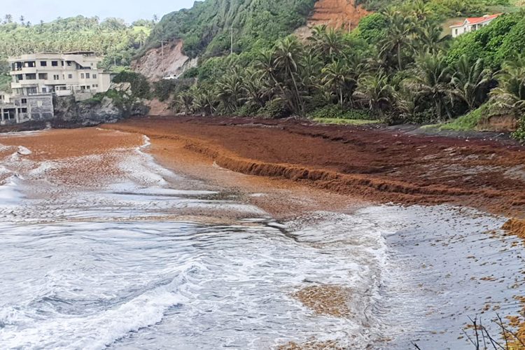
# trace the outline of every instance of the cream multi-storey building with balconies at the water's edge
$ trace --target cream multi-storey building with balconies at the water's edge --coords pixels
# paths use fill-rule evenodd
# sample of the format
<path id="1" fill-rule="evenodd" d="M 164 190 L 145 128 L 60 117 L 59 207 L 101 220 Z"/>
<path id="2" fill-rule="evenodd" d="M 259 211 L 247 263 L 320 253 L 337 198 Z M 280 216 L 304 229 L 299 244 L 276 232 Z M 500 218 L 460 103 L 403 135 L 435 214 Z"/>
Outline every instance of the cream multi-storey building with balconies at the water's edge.
<path id="1" fill-rule="evenodd" d="M 106 92 L 110 73 L 98 68 L 94 52 L 36 53 L 8 59 L 13 95 Z"/>

